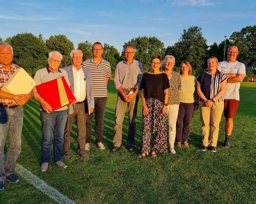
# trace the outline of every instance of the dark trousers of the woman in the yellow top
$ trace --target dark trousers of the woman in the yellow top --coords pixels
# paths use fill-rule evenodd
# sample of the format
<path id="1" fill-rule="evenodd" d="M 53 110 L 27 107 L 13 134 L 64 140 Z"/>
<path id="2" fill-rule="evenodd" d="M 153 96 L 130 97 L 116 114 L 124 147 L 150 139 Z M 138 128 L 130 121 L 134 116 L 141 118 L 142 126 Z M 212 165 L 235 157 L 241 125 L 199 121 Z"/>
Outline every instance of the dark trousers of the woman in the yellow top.
<path id="1" fill-rule="evenodd" d="M 180 103 L 176 123 L 176 142 L 185 142 L 190 134 L 190 122 L 194 114 L 194 103 Z"/>

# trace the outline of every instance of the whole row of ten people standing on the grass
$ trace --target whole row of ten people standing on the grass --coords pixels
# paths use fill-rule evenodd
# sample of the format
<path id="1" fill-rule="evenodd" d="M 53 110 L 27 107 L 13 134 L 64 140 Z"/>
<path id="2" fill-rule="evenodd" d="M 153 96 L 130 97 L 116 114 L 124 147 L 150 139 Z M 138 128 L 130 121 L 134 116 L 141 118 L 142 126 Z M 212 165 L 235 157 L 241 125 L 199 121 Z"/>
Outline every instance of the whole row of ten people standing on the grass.
<path id="1" fill-rule="evenodd" d="M 21 151 L 21 134 L 23 126 L 23 105 L 34 96 L 40 104 L 40 120 L 42 128 L 41 171 L 47 171 L 51 162 L 51 143 L 54 137 L 54 163 L 59 168 L 67 165 L 62 159 L 70 159 L 70 132 L 75 121 L 77 125 L 77 154 L 88 159 L 92 135 L 92 120 L 95 117 L 95 140 L 97 147 L 105 149 L 103 140 L 103 120 L 108 97 L 107 85 L 111 77 L 110 63 L 102 59 L 103 46 L 100 42 L 93 44 L 93 57 L 82 62 L 82 52 L 73 49 L 70 53 L 72 65 L 59 68 L 62 55 L 57 51 L 49 53 L 48 66 L 36 71 L 36 85 L 64 77 L 76 100 L 68 106 L 57 110 L 45 101 L 34 88 L 29 94 L 11 94 L 0 90 L 0 190 L 4 182 L 19 181 L 13 174 L 15 163 Z M 238 48 L 228 49 L 228 59 L 218 63 L 211 57 L 207 60 L 208 71 L 200 75 L 198 80 L 192 73 L 189 62 L 182 62 L 179 72 L 173 70 L 175 58 L 165 56 L 163 62 L 159 55 L 151 59 L 151 71 L 144 73 L 143 65 L 134 59 L 135 48 L 127 44 L 124 48 L 124 60 L 119 62 L 115 71 L 115 88 L 117 101 L 115 110 L 115 126 L 113 152 L 121 147 L 122 123 L 126 107 L 129 116 L 127 133 L 127 149 L 133 151 L 138 106 L 138 92 L 141 90 L 143 108 L 143 131 L 141 152 L 139 157 L 167 152 L 167 120 L 169 126 L 170 152 L 175 154 L 176 148 L 189 147 L 188 137 L 190 122 L 194 111 L 200 108 L 203 142 L 202 150 L 208 146 L 209 130 L 211 150 L 216 151 L 219 123 L 224 108 L 226 139 L 224 146 L 229 148 L 233 117 L 238 108 L 240 82 L 245 77 L 244 64 L 237 62 Z M 12 63 L 13 50 L 8 43 L 0 43 L 0 82 L 2 88 L 19 66 Z M 160 71 L 163 65 L 164 71 Z M 218 67 L 217 67 L 218 66 Z M 225 91 L 226 88 L 226 91 Z M 50 90 L 49 90 L 50 91 Z M 225 94 L 224 94 L 225 93 Z M 224 97 L 223 97 L 224 94 Z M 199 100 L 199 96 L 200 100 Z M 223 102 L 224 101 L 224 102 Z M 151 146 L 151 131 L 153 144 Z M 9 132 L 9 146 L 4 160 L 4 146 Z M 63 156 L 62 156 L 63 152 Z"/>

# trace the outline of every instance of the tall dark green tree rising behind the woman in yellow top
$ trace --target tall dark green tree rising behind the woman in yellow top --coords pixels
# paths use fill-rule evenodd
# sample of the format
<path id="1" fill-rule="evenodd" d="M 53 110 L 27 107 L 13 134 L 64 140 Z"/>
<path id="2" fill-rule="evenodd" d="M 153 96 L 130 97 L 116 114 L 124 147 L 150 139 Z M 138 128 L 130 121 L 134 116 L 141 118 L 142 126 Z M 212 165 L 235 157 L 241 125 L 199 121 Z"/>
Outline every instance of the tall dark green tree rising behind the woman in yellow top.
<path id="1" fill-rule="evenodd" d="M 188 30 L 183 30 L 178 42 L 166 48 L 165 54 L 176 58 L 177 68 L 182 61 L 188 61 L 193 68 L 193 74 L 198 77 L 206 67 L 207 48 L 201 28 L 190 27 Z"/>

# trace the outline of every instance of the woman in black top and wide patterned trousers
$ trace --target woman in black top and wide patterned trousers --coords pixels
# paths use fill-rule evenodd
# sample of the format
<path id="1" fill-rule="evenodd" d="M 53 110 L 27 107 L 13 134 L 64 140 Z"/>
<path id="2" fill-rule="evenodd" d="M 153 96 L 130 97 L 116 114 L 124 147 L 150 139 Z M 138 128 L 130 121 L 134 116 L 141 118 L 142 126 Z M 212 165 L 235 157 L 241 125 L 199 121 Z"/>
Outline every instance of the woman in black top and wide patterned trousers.
<path id="1" fill-rule="evenodd" d="M 167 101 L 168 78 L 159 71 L 161 56 L 151 58 L 151 71 L 144 73 L 141 82 L 141 99 L 143 108 L 143 132 L 141 154 L 146 157 L 150 152 L 151 127 L 153 124 L 153 146 L 151 156 L 157 152 L 167 152 Z"/>

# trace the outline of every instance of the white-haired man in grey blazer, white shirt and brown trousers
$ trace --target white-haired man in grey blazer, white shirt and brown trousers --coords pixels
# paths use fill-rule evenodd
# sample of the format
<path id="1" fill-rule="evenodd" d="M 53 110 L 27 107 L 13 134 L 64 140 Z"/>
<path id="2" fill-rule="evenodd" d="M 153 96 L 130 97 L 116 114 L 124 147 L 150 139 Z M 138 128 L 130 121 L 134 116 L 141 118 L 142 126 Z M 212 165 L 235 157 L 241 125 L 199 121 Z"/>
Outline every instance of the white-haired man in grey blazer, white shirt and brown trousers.
<path id="1" fill-rule="evenodd" d="M 89 70 L 81 67 L 81 50 L 73 49 L 70 57 L 72 65 L 63 69 L 68 72 L 71 91 L 76 98 L 76 103 L 68 106 L 68 119 L 64 131 L 63 159 L 70 159 L 70 132 L 74 120 L 77 124 L 77 153 L 82 158 L 87 159 L 89 156 L 84 151 L 86 148 L 86 113 L 90 115 L 94 110 L 92 76 Z"/>

